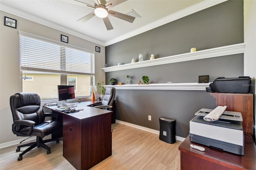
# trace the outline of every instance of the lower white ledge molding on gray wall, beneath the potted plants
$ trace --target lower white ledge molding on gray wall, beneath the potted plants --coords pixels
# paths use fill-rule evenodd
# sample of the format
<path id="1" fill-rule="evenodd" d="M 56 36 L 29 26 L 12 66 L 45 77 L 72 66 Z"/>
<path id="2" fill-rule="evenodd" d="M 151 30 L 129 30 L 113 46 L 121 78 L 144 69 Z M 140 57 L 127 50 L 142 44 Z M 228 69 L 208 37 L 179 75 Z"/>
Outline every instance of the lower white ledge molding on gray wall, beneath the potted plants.
<path id="1" fill-rule="evenodd" d="M 157 83 L 149 85 L 104 85 L 104 87 L 115 87 L 116 90 L 203 90 L 209 87 L 210 83 Z"/>

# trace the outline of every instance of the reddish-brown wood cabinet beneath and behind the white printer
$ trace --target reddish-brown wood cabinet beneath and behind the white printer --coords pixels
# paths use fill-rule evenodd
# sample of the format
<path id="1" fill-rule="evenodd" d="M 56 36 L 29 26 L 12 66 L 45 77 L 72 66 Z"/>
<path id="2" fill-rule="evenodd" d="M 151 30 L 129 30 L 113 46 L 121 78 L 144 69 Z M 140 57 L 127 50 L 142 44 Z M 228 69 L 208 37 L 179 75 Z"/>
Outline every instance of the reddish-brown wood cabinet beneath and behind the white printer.
<path id="1" fill-rule="evenodd" d="M 210 93 L 216 98 L 216 106 L 227 106 L 227 111 L 242 114 L 244 133 L 252 135 L 253 94 Z M 205 148 L 204 152 L 190 148 L 195 144 Z M 244 156 L 217 150 L 191 142 L 190 136 L 180 144 L 181 170 L 256 170 L 256 145 L 252 138 L 244 135 Z"/>

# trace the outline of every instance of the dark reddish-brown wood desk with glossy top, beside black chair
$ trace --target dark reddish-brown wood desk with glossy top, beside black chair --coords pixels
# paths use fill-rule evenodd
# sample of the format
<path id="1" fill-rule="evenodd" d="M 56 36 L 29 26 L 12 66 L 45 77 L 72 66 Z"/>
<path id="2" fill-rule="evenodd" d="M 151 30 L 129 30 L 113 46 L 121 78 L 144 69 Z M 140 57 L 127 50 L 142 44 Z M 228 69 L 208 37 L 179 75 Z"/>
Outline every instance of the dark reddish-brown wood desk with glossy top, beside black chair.
<path id="1" fill-rule="evenodd" d="M 89 107 L 92 101 L 78 103 L 76 113 L 63 117 L 63 156 L 77 170 L 90 169 L 112 155 L 112 111 Z M 55 106 L 56 107 L 56 106 Z"/>

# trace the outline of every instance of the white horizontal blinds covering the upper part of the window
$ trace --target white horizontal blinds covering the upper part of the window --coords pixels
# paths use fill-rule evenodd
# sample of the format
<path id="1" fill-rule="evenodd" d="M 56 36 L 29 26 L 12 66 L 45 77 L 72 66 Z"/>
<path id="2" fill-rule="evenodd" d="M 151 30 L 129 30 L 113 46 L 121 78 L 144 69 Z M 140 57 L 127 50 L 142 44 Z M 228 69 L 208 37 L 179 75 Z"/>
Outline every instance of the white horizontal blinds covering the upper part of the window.
<path id="1" fill-rule="evenodd" d="M 20 32 L 20 69 L 94 75 L 94 53 Z"/>

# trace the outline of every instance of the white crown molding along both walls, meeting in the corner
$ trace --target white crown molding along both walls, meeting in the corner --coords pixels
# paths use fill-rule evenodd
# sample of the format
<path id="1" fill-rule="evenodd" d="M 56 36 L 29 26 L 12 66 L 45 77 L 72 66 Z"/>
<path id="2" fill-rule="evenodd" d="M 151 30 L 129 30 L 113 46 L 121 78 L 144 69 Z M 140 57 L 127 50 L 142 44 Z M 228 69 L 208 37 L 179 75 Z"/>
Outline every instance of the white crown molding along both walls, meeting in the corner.
<path id="1" fill-rule="evenodd" d="M 227 0 L 204 0 L 204 1 L 200 2 L 200 3 L 198 3 L 198 4 L 195 4 L 194 6 L 190 6 L 190 7 L 186 8 L 186 9 L 184 9 L 184 10 L 176 12 L 176 13 L 170 15 L 170 16 L 162 18 L 162 19 L 160 19 L 160 20 L 158 20 L 156 22 L 148 24 L 148 25 L 146 25 L 146 26 L 144 26 L 142 28 L 139 28 L 137 30 L 134 30 L 132 32 L 124 34 L 123 36 L 120 36 L 118 38 L 114 38 L 112 40 L 109 40 L 107 42 L 102 42 L 100 40 L 96 40 L 96 39 L 94 39 L 94 38 L 92 38 L 90 36 L 86 36 L 84 34 L 78 33 L 78 32 L 76 32 L 74 30 L 70 30 L 70 29 L 65 28 L 63 26 L 60 26 L 58 24 L 54 24 L 52 22 L 43 20 L 41 18 L 32 16 L 32 15 L 27 14 L 25 12 L 22 12 L 20 10 L 16 10 L 14 8 L 6 6 L 4 4 L 1 4 L 0 10 L 3 11 L 3 12 L 7 12 L 7 13 L 10 13 L 10 14 L 16 15 L 18 17 L 30 20 L 32 22 L 36 22 L 38 24 L 42 24 L 44 26 L 48 26 L 50 28 L 53 28 L 53 29 L 65 32 L 67 34 L 70 34 L 70 35 L 82 38 L 84 40 L 90 41 L 92 43 L 96 43 L 96 44 L 99 44 L 99 45 L 102 45 L 102 46 L 106 47 L 108 45 L 120 42 L 120 41 L 128 39 L 128 38 L 131 38 L 131 37 L 136 36 L 138 34 L 142 34 L 143 32 L 146 32 L 148 30 L 152 30 L 152 29 L 154 29 L 156 27 L 162 26 L 162 25 L 167 24 L 169 22 L 172 22 L 174 20 L 178 20 L 178 19 L 180 19 L 180 18 L 182 18 L 184 16 L 188 16 L 190 14 L 196 13 L 198 11 L 204 10 L 206 8 L 209 8 L 211 6 L 220 4 L 220 3 L 225 2 L 225 1 L 227 1 Z"/>

